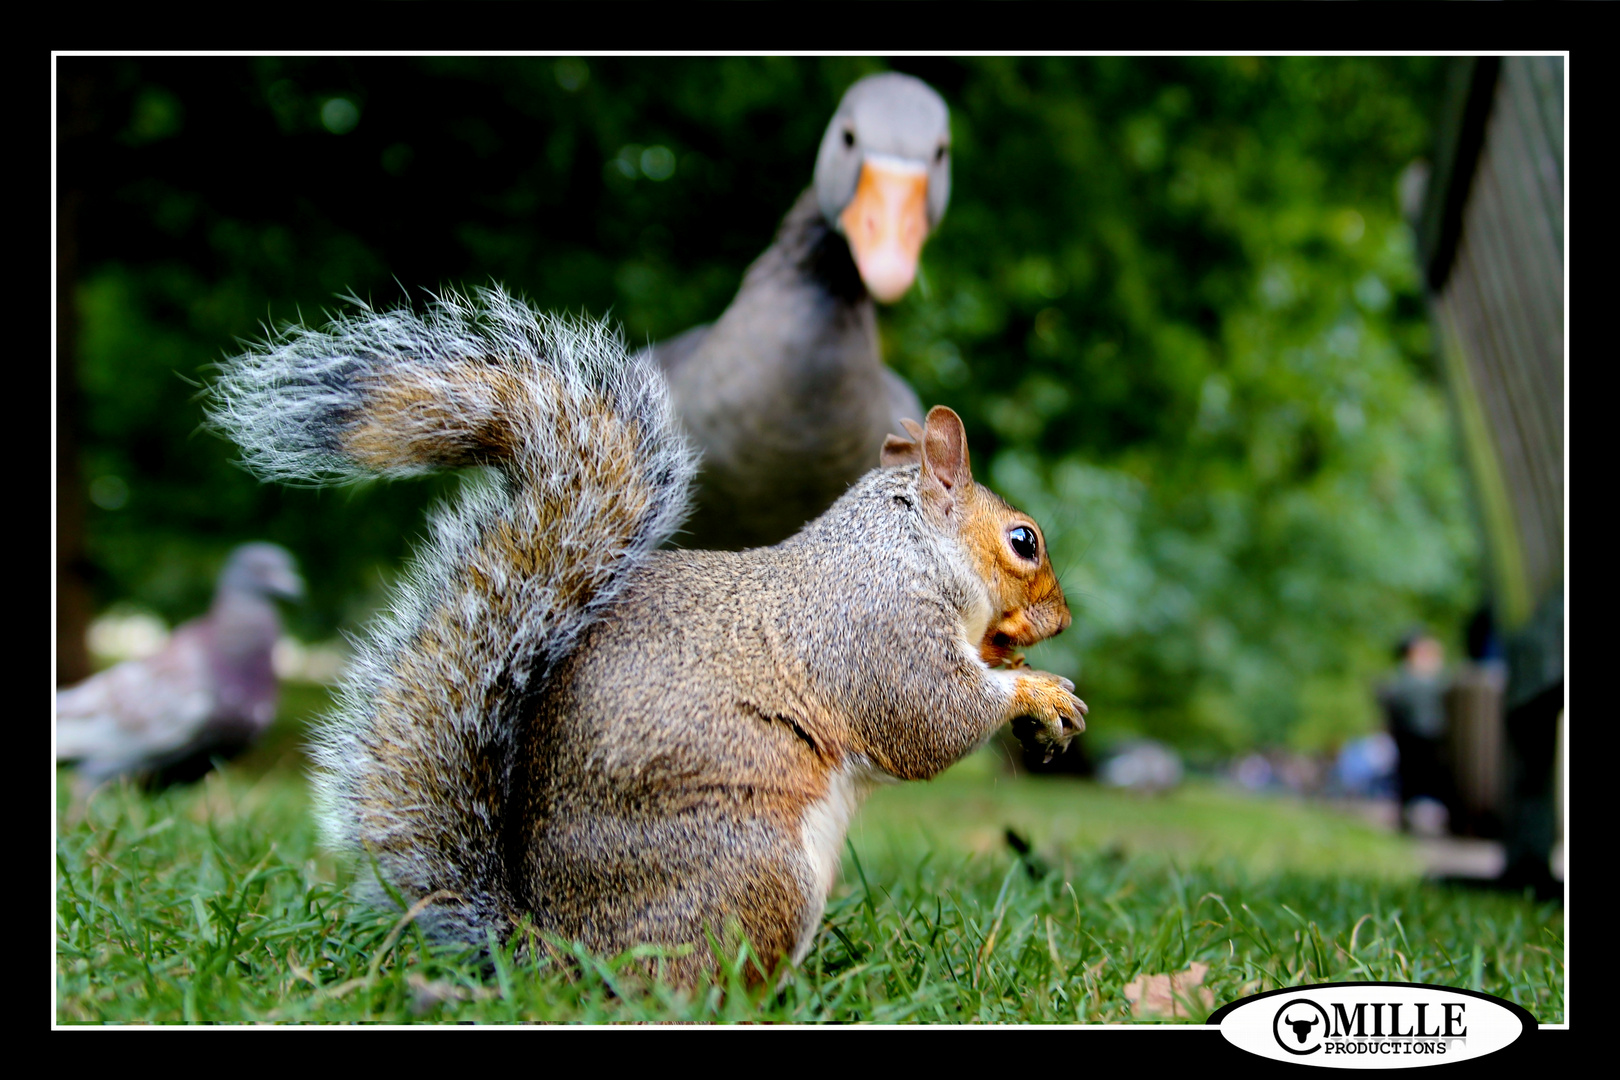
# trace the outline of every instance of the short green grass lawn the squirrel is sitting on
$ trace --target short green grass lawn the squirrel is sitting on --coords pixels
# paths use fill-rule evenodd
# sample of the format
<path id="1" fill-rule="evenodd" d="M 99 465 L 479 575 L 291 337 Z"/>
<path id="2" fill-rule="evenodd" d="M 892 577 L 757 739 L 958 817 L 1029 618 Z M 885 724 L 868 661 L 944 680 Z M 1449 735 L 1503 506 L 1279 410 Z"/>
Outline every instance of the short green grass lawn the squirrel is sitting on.
<path id="1" fill-rule="evenodd" d="M 298 688 L 287 712 L 319 703 Z M 81 810 L 60 772 L 60 1023 L 1119 1023 L 1126 983 L 1191 962 L 1217 1006 L 1398 980 L 1563 1020 L 1555 905 L 1426 884 L 1398 837 L 1322 808 L 1011 780 L 988 755 L 868 800 L 823 933 L 779 989 L 747 989 L 739 957 L 687 994 L 633 978 L 637 957 L 501 954 L 486 973 L 348 902 L 316 845 L 298 738 L 287 724 L 202 784 L 110 785 Z"/>

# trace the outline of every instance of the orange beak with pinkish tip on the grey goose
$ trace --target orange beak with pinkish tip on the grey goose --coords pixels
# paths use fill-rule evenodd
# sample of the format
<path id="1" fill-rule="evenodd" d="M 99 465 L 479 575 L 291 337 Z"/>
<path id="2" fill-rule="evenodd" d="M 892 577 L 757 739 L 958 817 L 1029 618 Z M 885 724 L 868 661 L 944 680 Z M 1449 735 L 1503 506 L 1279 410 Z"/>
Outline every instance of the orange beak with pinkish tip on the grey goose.
<path id="1" fill-rule="evenodd" d="M 917 256 L 928 236 L 928 170 L 868 159 L 838 222 L 867 291 L 893 304 L 917 279 Z"/>

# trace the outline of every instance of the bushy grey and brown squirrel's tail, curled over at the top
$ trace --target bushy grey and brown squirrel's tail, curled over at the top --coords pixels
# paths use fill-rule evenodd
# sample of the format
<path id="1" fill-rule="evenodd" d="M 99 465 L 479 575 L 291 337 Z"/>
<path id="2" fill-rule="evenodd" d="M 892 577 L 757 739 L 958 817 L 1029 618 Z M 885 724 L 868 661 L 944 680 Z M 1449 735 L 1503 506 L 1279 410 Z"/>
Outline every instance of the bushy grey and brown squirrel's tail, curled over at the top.
<path id="1" fill-rule="evenodd" d="M 441 894 L 431 929 L 504 939 L 525 708 L 685 513 L 695 461 L 661 374 L 601 324 L 447 291 L 424 316 L 361 306 L 277 334 L 224 364 L 209 419 L 266 479 L 499 471 L 436 513 L 355 641 L 316 795 L 330 844 L 374 857 L 407 904 Z"/>

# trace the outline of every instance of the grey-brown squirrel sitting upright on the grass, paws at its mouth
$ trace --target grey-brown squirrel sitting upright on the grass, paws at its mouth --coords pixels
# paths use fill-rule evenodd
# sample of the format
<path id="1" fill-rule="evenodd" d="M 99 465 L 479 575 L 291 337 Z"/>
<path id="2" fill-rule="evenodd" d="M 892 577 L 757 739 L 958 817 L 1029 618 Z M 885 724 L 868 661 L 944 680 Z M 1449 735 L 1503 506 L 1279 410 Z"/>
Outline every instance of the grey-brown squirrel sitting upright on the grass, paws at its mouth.
<path id="1" fill-rule="evenodd" d="M 710 936 L 742 933 L 765 978 L 808 952 L 875 784 L 1014 717 L 1048 750 L 1084 730 L 1074 683 L 1017 653 L 1071 622 L 1040 526 L 974 481 L 944 406 L 797 534 L 716 552 L 661 549 L 695 455 L 656 363 L 499 287 L 287 327 L 209 395 L 264 479 L 488 466 L 355 641 L 313 750 L 326 842 L 433 938 L 526 920 L 663 946 L 692 984 Z"/>

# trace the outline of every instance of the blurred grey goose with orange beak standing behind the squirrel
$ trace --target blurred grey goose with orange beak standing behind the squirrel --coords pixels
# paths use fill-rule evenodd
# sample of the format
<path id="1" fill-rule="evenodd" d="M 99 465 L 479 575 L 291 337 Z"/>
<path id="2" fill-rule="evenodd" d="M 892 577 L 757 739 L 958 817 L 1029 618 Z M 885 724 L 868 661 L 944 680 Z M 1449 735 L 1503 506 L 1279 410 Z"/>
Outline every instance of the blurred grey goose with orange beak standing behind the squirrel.
<path id="1" fill-rule="evenodd" d="M 922 405 L 885 368 L 873 301 L 917 277 L 951 198 L 944 100 L 909 74 L 846 91 L 815 180 L 731 306 L 651 347 L 701 450 L 685 547 L 774 544 L 878 466 L 883 440 Z"/>

